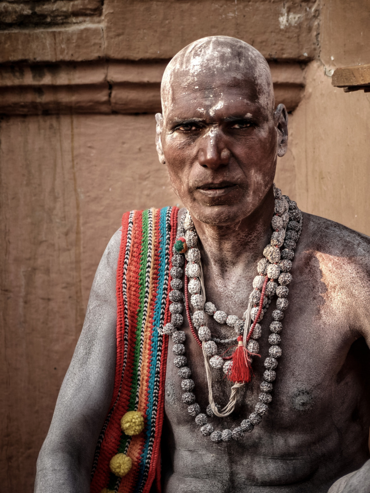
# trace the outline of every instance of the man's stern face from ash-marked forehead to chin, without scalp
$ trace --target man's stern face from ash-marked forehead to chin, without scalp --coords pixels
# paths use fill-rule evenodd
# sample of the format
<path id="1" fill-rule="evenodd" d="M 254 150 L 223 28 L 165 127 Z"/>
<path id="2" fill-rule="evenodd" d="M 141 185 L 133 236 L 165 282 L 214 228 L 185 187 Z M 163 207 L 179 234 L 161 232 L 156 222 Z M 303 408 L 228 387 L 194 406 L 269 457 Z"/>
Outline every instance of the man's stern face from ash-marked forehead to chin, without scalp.
<path id="1" fill-rule="evenodd" d="M 161 142 L 172 186 L 193 217 L 226 225 L 262 206 L 275 175 L 275 120 L 250 80 L 173 84 Z"/>

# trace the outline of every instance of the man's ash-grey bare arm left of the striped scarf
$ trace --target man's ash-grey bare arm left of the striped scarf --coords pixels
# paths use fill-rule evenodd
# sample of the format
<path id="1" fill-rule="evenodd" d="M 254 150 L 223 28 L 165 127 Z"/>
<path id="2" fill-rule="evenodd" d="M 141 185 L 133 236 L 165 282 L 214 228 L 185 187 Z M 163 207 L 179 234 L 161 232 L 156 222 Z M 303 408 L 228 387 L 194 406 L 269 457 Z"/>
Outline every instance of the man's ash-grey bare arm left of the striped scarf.
<path id="1" fill-rule="evenodd" d="M 111 238 L 91 288 L 81 336 L 37 459 L 35 493 L 88 493 L 95 446 L 108 413 L 116 355 L 116 269 Z"/>

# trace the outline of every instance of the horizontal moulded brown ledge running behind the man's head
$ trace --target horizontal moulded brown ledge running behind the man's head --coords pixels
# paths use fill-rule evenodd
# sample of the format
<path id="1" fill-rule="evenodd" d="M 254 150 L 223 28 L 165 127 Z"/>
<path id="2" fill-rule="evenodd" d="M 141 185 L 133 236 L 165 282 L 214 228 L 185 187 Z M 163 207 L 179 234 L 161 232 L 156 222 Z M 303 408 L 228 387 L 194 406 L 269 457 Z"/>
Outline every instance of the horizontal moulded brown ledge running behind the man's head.
<path id="1" fill-rule="evenodd" d="M 0 66 L 0 113 L 155 113 L 167 62 Z M 288 111 L 304 92 L 300 64 L 270 64 L 276 103 Z"/>

